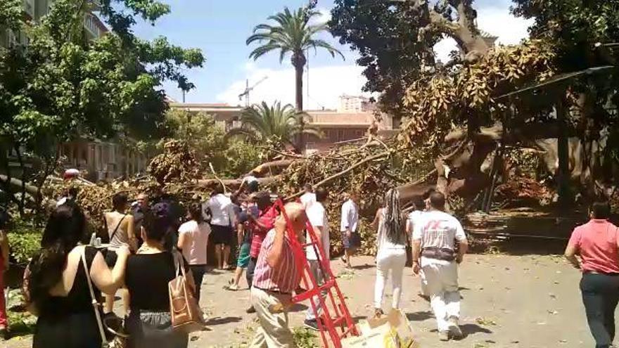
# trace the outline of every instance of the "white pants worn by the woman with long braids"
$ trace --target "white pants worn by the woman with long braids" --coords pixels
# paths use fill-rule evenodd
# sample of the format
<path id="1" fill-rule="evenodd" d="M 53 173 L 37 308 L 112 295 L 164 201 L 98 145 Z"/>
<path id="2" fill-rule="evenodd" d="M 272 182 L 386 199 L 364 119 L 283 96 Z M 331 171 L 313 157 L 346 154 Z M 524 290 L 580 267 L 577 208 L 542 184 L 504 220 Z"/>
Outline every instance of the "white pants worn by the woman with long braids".
<path id="1" fill-rule="evenodd" d="M 406 250 L 402 249 L 381 249 L 376 255 L 376 285 L 374 286 L 374 308 L 383 307 L 383 295 L 385 293 L 385 283 L 391 271 L 391 285 L 393 287 L 393 309 L 400 308 L 400 297 L 402 296 L 402 273 L 406 266 Z"/>

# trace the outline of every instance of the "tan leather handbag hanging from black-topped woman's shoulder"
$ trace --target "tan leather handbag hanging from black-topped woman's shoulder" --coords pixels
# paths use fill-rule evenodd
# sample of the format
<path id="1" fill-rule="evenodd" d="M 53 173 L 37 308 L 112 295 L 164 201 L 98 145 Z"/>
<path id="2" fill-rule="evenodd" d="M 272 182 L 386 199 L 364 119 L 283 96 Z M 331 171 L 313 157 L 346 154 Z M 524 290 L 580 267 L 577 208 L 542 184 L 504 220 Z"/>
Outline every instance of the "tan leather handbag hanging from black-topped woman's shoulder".
<path id="1" fill-rule="evenodd" d="M 167 283 L 170 294 L 170 317 L 172 329 L 182 333 L 193 333 L 205 328 L 202 309 L 193 295 L 188 282 L 184 264 L 179 252 L 173 252 L 176 273 L 174 279 Z"/>

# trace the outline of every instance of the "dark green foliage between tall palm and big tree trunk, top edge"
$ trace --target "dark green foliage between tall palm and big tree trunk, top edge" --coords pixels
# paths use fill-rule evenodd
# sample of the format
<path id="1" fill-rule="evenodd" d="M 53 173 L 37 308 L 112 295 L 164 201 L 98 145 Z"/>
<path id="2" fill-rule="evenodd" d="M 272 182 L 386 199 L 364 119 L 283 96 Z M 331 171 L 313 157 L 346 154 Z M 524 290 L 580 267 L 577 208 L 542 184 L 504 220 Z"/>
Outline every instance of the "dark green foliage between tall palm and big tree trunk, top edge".
<path id="1" fill-rule="evenodd" d="M 439 36 L 419 36 L 419 11 L 395 7 L 390 1 L 336 0 L 328 22 L 341 44 L 359 52 L 364 67 L 364 91 L 381 94 L 381 108 L 399 117 L 408 86 L 419 79 L 424 60 L 433 61 L 431 47 Z"/>

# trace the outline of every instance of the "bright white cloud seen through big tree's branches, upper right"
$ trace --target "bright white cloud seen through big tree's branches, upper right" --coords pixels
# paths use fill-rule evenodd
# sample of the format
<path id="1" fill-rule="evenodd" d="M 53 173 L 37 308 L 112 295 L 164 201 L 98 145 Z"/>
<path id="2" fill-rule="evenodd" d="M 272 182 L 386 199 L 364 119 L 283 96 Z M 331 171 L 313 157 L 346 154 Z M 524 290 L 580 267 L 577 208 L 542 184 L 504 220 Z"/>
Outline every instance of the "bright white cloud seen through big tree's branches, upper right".
<path id="1" fill-rule="evenodd" d="M 514 17 L 509 8 L 482 7 L 478 9 L 478 27 L 480 30 L 497 37 L 497 44 L 518 44 L 529 36 L 527 29 L 532 20 Z M 434 46 L 436 56 L 442 62 L 449 60 L 449 52 L 457 50 L 456 41 L 451 38 L 442 39 Z"/>

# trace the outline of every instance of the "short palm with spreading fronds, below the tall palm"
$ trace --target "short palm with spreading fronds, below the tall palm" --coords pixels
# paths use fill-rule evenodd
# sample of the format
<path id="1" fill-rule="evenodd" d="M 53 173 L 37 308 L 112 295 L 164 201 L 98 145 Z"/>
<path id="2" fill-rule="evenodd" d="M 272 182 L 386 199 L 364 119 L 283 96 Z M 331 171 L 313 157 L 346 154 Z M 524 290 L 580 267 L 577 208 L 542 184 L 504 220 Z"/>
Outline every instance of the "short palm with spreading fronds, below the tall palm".
<path id="1" fill-rule="evenodd" d="M 303 113 L 302 117 L 305 115 Z M 275 141 L 281 146 L 294 146 L 293 139 L 299 134 L 321 136 L 320 131 L 314 127 L 301 127 L 298 112 L 293 105 L 282 107 L 278 101 L 269 106 L 263 101 L 245 108 L 241 113 L 241 127 L 230 129 L 227 136 L 241 135 L 259 142 Z"/>

